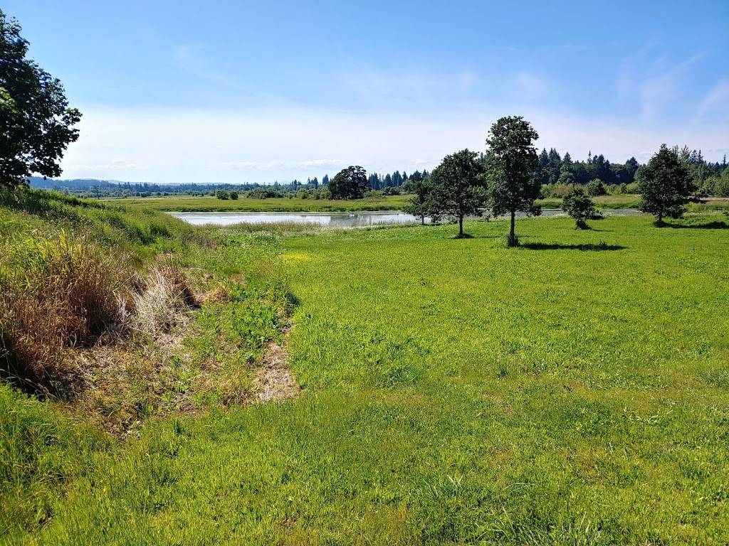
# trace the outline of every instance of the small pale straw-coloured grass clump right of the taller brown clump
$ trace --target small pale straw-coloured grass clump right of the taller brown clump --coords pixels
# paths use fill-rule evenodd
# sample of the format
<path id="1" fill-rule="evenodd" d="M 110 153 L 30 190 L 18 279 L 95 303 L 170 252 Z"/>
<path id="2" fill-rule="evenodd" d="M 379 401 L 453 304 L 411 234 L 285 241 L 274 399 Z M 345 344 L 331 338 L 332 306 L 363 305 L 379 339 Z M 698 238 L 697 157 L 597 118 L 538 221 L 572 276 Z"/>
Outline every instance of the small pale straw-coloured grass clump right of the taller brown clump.
<path id="1" fill-rule="evenodd" d="M 184 274 L 165 264 L 152 269 L 146 288 L 134 295 L 135 313 L 131 327 L 155 337 L 182 322 L 188 309 L 198 304 Z"/>

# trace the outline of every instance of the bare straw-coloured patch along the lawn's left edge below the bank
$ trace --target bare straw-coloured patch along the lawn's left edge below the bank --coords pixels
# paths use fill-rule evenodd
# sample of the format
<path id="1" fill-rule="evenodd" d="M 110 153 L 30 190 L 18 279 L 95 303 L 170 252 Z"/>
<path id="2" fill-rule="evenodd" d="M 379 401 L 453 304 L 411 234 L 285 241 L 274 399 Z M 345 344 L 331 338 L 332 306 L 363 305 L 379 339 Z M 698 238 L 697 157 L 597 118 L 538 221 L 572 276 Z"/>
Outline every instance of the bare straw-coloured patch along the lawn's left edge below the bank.
<path id="1" fill-rule="evenodd" d="M 282 402 L 297 397 L 301 391 L 289 368 L 289 354 L 286 352 L 286 339 L 290 330 L 290 326 L 284 328 L 282 343 L 271 340 L 265 349 L 253 383 L 258 403 Z"/>

